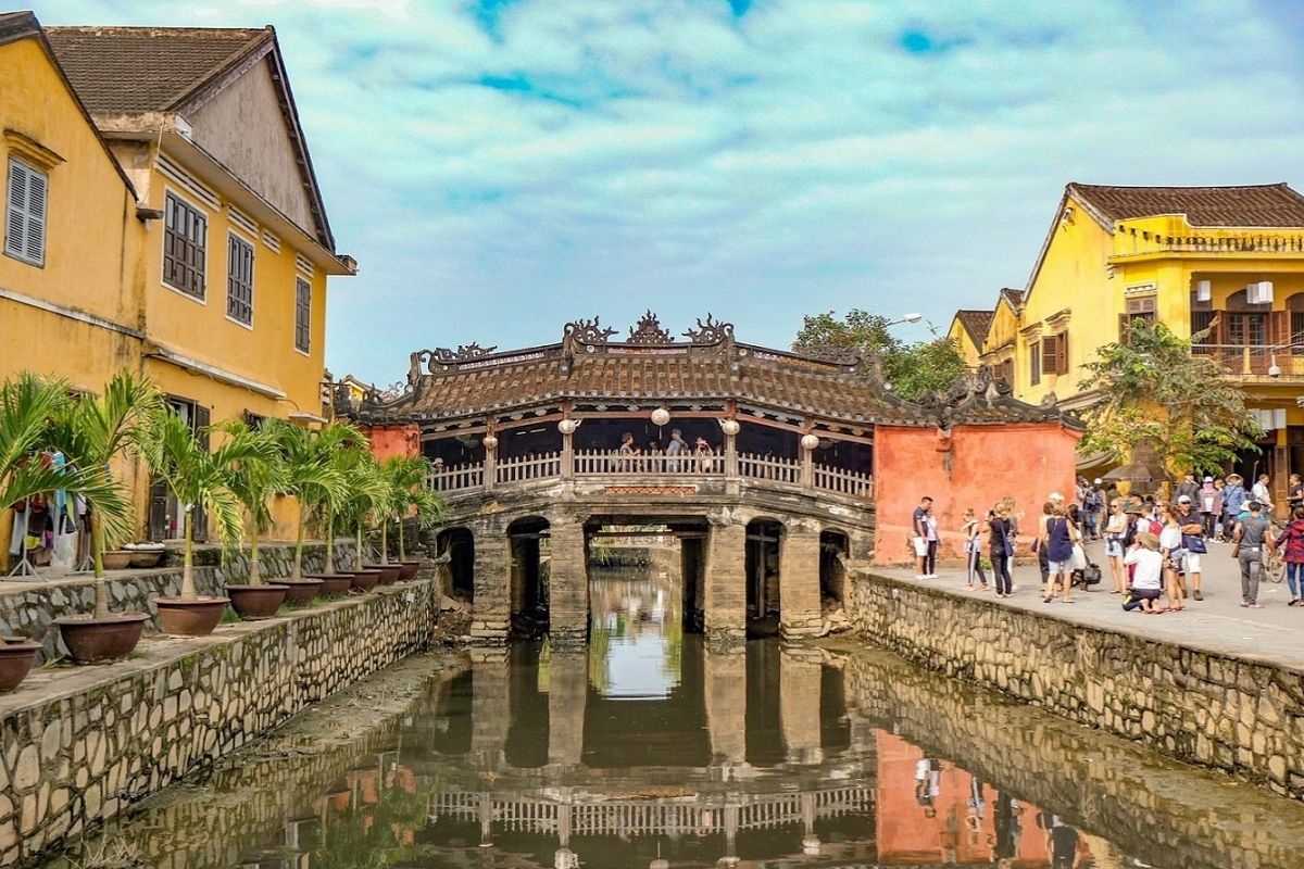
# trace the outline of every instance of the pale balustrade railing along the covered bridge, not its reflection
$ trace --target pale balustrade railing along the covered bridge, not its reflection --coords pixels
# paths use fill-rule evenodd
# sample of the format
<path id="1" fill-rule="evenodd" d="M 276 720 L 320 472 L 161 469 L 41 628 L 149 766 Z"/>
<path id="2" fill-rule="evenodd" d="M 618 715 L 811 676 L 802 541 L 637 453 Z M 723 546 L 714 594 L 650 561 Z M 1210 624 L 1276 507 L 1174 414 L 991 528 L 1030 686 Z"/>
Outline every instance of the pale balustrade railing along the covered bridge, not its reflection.
<path id="1" fill-rule="evenodd" d="M 746 452 L 622 456 L 609 451 L 576 451 L 494 459 L 488 464 L 493 465 L 494 489 L 562 478 L 587 482 L 644 478 L 691 482 L 703 478 L 734 478 L 805 487 L 846 498 L 874 498 L 874 478 L 867 473 L 832 468 L 810 460 Z M 425 485 L 443 494 L 468 494 L 485 490 L 485 477 L 486 463 L 472 463 L 441 468 L 426 477 Z"/>

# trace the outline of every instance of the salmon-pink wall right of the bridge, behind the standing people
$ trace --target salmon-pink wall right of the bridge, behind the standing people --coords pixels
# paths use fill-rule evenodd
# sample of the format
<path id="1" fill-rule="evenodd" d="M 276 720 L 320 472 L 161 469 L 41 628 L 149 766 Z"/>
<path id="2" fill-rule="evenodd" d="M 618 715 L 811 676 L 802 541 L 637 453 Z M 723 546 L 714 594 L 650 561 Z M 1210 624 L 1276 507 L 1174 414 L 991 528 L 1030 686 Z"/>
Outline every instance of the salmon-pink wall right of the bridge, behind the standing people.
<path id="1" fill-rule="evenodd" d="M 936 429 L 878 426 L 874 433 L 874 500 L 876 564 L 909 563 L 910 513 L 932 496 L 941 537 L 941 558 L 962 558 L 966 507 L 981 520 L 1009 495 L 1020 522 L 1020 551 L 1030 541 L 1042 503 L 1052 491 L 1073 496 L 1077 442 L 1081 435 L 1059 422 L 955 426 L 951 436 Z"/>

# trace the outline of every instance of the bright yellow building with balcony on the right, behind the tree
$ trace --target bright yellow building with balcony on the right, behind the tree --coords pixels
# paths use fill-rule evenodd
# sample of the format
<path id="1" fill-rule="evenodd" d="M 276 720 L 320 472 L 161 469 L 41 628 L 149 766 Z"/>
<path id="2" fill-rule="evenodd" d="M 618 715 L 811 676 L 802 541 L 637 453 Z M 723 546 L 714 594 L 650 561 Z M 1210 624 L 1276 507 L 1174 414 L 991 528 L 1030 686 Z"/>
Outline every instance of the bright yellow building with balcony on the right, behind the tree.
<path id="1" fill-rule="evenodd" d="M 1269 431 L 1236 469 L 1284 491 L 1304 470 L 1304 197 L 1286 184 L 1069 184 L 1015 331 L 998 330 L 998 306 L 985 354 L 1012 341 L 1017 397 L 1086 406 L 1084 366 L 1136 317 L 1183 336 L 1211 327 L 1196 350 L 1223 365 Z"/>

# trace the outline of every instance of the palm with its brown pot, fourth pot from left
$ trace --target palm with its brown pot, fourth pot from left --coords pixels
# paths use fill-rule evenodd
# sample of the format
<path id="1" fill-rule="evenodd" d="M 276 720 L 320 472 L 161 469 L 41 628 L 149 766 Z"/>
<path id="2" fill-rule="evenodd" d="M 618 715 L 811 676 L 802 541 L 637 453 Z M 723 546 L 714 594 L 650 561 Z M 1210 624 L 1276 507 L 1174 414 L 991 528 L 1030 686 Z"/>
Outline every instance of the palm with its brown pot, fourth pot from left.
<path id="1" fill-rule="evenodd" d="M 250 430 L 243 420 L 228 420 L 219 425 L 230 439 L 228 443 L 245 459 L 232 461 L 226 466 L 227 489 L 244 507 L 246 528 L 249 529 L 249 581 L 244 585 L 228 584 L 227 597 L 231 608 L 246 620 L 269 619 L 286 602 L 288 585 L 263 582 L 258 565 L 258 535 L 271 528 L 271 509 L 267 503 L 284 485 L 286 463 L 280 459 L 276 433 L 273 429 Z"/>

